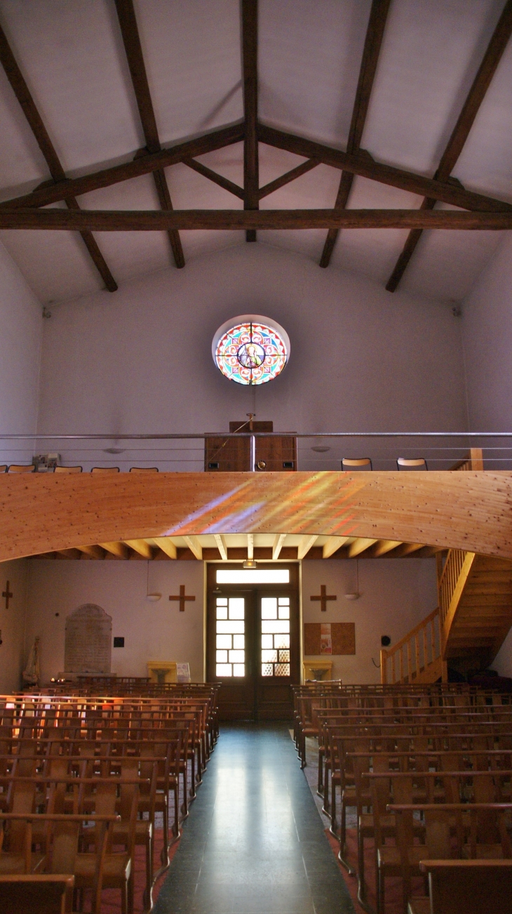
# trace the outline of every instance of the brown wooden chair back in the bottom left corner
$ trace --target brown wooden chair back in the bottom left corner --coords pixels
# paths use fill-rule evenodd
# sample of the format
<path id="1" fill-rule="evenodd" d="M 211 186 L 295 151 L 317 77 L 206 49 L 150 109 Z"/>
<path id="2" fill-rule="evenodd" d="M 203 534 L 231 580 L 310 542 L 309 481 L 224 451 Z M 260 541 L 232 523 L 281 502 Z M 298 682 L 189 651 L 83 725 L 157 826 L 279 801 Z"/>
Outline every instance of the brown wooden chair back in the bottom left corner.
<path id="1" fill-rule="evenodd" d="M 75 878 L 53 873 L 0 876 L 0 914 L 68 914 Z"/>

